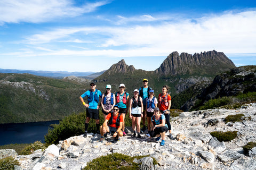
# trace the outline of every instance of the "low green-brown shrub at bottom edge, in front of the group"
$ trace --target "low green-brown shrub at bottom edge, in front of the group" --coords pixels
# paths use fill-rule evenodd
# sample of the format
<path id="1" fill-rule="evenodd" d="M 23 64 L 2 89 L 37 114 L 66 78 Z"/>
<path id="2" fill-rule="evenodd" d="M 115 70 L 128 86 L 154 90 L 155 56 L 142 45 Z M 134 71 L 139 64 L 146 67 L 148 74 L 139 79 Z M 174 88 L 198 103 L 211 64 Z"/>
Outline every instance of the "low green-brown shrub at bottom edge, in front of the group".
<path id="1" fill-rule="evenodd" d="M 148 155 L 147 155 L 148 156 Z M 147 156 L 127 156 L 123 154 L 110 154 L 107 156 L 101 156 L 99 158 L 95 158 L 91 160 L 91 162 L 87 163 L 87 166 L 83 168 L 83 170 L 89 169 L 111 169 L 111 170 L 124 170 L 124 169 L 139 169 L 139 164 L 133 162 L 135 158 L 141 159 Z M 157 161 L 153 158 L 153 164 L 156 165 Z"/>

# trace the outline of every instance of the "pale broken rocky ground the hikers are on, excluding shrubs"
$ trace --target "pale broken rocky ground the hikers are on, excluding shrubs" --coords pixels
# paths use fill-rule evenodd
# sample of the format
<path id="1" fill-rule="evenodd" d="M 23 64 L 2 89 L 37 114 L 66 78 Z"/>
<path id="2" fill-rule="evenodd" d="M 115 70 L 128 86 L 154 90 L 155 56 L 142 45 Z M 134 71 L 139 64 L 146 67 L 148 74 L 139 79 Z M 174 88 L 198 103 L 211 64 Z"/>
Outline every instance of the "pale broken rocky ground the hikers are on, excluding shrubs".
<path id="1" fill-rule="evenodd" d="M 244 114 L 242 122 L 223 122 L 228 115 Z M 15 155 L 20 166 L 16 169 L 82 169 L 97 157 L 118 152 L 121 154 L 150 155 L 142 160 L 141 169 L 245 169 L 256 168 L 256 147 L 245 156 L 243 146 L 256 141 L 256 103 L 239 109 L 209 109 L 183 112 L 172 118 L 172 139 L 166 137 L 164 146 L 159 141 L 142 135 L 132 138 L 131 133 L 118 142 L 108 137 L 99 142 L 100 135 L 82 135 L 60 141 L 45 151 L 36 150 L 33 154 Z M 250 118 L 249 118 L 250 117 Z M 130 128 L 127 128 L 130 131 Z M 237 138 L 229 142 L 219 142 L 210 135 L 212 131 L 237 131 Z M 5 152 L 6 153 L 6 152 Z M 7 154 L 5 154 L 7 155 Z M 156 158 L 153 165 L 150 157 Z"/>

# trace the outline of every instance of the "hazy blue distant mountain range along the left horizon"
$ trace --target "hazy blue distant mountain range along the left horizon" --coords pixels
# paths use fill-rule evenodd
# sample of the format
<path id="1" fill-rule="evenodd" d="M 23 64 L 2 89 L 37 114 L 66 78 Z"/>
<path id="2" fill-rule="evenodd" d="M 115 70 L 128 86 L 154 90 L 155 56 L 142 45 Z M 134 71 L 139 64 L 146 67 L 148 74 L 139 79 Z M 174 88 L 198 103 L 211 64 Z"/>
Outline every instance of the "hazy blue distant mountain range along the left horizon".
<path id="1" fill-rule="evenodd" d="M 34 71 L 34 70 L 13 70 L 13 69 L 0 69 L 0 73 L 28 73 L 39 75 L 43 77 L 53 77 L 53 78 L 63 78 L 68 77 L 70 75 L 75 75 L 76 77 L 84 77 L 86 79 L 94 79 L 102 74 L 104 71 L 100 73 L 95 72 L 68 72 L 68 71 Z"/>

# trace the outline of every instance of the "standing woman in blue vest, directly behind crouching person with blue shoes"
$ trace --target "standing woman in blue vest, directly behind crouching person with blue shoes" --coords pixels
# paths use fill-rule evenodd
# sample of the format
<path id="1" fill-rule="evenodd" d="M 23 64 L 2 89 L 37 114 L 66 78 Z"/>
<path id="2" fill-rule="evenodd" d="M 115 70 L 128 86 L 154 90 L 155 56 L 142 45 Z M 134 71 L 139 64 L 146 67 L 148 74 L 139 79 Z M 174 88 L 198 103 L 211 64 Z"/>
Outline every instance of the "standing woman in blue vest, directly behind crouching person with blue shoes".
<path id="1" fill-rule="evenodd" d="M 149 90 L 149 97 L 146 98 L 146 110 L 147 110 L 147 122 L 148 122 L 148 133 L 146 134 L 147 137 L 150 137 L 150 125 L 151 125 L 151 117 L 154 114 L 154 108 L 157 107 L 157 99 L 154 96 L 154 90 Z M 144 115 L 143 115 L 144 116 Z"/>

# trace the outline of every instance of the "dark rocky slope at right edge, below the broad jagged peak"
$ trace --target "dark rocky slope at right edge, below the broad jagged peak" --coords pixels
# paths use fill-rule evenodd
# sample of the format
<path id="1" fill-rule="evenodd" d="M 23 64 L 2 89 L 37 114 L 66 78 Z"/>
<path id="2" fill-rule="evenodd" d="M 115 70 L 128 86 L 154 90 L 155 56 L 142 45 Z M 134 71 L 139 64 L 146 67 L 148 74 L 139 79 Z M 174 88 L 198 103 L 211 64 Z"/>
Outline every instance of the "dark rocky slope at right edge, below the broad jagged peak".
<path id="1" fill-rule="evenodd" d="M 204 104 L 210 99 L 256 91 L 256 66 L 241 66 L 231 69 L 217 75 L 206 88 L 197 88 L 197 90 L 198 95 L 188 100 L 181 107 L 183 111 L 189 111 L 198 100 L 201 100 Z"/>

